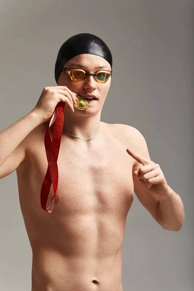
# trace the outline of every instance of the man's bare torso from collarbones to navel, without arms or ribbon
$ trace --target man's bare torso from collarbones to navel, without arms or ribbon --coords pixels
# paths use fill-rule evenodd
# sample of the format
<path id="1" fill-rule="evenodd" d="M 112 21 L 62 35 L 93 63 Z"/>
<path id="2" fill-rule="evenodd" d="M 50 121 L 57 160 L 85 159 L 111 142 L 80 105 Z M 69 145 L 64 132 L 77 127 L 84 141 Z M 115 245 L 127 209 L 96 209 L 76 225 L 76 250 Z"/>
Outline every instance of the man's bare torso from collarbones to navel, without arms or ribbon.
<path id="1" fill-rule="evenodd" d="M 46 126 L 29 134 L 26 159 L 16 170 L 32 246 L 32 291 L 122 291 L 121 246 L 134 194 L 127 126 L 101 122 L 99 136 L 88 143 L 63 134 L 51 213 L 40 205 Z"/>

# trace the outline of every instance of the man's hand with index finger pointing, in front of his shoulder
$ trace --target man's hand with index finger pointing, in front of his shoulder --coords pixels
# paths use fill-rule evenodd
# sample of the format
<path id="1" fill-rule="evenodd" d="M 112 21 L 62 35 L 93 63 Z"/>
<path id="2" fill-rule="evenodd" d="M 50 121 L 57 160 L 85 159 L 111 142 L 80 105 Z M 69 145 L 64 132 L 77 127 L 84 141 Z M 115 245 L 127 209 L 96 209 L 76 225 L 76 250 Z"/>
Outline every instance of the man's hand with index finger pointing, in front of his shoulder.
<path id="1" fill-rule="evenodd" d="M 127 149 L 128 154 L 137 162 L 143 164 L 139 171 L 134 171 L 133 176 L 149 191 L 154 193 L 158 198 L 169 195 L 169 189 L 166 179 L 162 173 L 159 164 L 152 162 L 143 156 Z"/>

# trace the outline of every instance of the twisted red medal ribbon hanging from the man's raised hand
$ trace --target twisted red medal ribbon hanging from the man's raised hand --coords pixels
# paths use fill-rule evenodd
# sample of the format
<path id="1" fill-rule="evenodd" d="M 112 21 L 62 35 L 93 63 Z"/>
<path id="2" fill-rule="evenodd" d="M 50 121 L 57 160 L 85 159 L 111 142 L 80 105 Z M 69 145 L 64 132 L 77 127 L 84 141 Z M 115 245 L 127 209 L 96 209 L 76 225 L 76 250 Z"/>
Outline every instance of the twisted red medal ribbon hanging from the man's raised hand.
<path id="1" fill-rule="evenodd" d="M 41 188 L 40 201 L 42 209 L 48 212 L 52 212 L 55 207 L 55 197 L 57 193 L 59 178 L 57 160 L 64 126 L 64 107 L 64 102 L 59 102 L 56 106 L 55 112 L 51 117 L 44 139 L 48 168 Z M 53 122 L 55 122 L 55 124 L 51 140 L 50 126 L 53 124 Z M 53 194 L 51 194 L 49 197 L 51 185 L 53 187 L 54 197 Z"/>

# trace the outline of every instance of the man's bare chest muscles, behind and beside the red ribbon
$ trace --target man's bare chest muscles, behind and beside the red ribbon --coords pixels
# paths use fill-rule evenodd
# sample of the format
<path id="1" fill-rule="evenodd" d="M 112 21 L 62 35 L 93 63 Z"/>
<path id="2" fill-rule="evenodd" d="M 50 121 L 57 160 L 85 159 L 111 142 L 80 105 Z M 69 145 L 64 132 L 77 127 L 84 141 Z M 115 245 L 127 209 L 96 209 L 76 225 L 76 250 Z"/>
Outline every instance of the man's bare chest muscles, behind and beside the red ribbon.
<path id="1" fill-rule="evenodd" d="M 40 191 L 47 171 L 44 144 L 36 143 L 28 169 L 17 171 L 20 200 L 40 207 Z M 58 213 L 120 212 L 127 214 L 133 200 L 131 157 L 119 142 L 83 148 L 63 142 L 58 157 Z M 24 193 L 28 191 L 29 200 Z M 49 197 L 53 196 L 52 187 Z M 22 205 L 22 201 L 20 201 Z"/>

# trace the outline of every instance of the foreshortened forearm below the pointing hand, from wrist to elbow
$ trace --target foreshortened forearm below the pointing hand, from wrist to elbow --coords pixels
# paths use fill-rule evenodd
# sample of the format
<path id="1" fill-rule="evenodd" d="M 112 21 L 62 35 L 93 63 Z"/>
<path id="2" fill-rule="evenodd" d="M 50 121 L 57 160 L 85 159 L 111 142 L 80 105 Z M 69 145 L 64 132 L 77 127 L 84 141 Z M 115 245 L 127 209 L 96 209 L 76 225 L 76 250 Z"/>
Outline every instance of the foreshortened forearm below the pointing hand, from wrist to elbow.
<path id="1" fill-rule="evenodd" d="M 170 187 L 158 203 L 158 222 L 166 230 L 178 231 L 184 222 L 184 206 L 178 194 Z"/>

